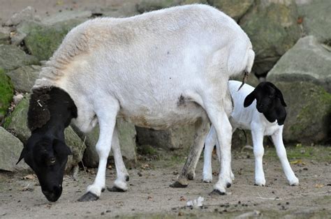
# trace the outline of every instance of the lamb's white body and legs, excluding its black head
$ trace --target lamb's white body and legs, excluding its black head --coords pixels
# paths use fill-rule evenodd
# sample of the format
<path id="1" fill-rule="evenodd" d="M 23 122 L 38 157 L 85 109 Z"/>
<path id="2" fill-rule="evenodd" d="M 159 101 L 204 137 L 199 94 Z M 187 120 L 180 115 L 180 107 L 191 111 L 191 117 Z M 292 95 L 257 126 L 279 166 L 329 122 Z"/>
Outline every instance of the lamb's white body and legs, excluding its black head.
<path id="1" fill-rule="evenodd" d="M 254 88 L 249 84 L 244 84 L 240 91 L 237 91 L 240 82 L 229 81 L 228 88 L 233 98 L 233 112 L 230 115 L 230 123 L 233 127 L 233 132 L 237 128 L 251 130 L 253 139 L 253 153 L 255 157 L 255 183 L 258 186 L 265 186 L 265 174 L 263 172 L 263 136 L 271 135 L 274 146 L 277 150 L 277 155 L 283 166 L 284 173 L 290 185 L 299 184 L 299 180 L 295 176 L 293 170 L 290 168 L 286 156 L 286 149 L 283 143 L 283 127 L 279 126 L 277 121 L 271 123 L 267 121 L 265 116 L 256 110 L 256 100 L 253 101 L 249 107 L 244 107 L 244 100 L 251 93 Z M 212 150 L 214 145 L 217 144 L 216 133 L 214 127 L 209 130 L 205 141 L 205 155 L 203 165 L 203 181 L 212 181 Z"/>

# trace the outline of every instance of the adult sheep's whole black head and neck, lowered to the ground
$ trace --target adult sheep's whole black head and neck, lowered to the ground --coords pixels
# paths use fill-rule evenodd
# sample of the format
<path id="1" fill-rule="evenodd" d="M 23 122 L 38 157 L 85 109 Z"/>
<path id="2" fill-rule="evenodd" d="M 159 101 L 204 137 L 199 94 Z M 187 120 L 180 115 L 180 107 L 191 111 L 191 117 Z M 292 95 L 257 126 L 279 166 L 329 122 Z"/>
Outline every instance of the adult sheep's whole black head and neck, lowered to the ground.
<path id="1" fill-rule="evenodd" d="M 64 169 L 71 155 L 64 142 L 64 129 L 77 117 L 77 108 L 68 93 L 56 87 L 34 91 L 29 104 L 31 137 L 17 163 L 24 158 L 36 173 L 45 197 L 56 202 L 61 196 Z"/>

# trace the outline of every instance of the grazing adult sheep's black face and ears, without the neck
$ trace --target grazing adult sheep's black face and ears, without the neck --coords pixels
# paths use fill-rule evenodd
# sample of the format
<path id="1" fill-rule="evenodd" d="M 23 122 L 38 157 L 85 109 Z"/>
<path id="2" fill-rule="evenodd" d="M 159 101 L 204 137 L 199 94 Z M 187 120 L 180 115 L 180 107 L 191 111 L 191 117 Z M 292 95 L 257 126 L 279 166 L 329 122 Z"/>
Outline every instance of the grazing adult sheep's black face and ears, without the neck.
<path id="1" fill-rule="evenodd" d="M 56 202 L 61 196 L 68 155 L 71 150 L 62 140 L 36 134 L 29 138 L 18 162 L 24 158 L 36 173 L 45 197 Z"/>

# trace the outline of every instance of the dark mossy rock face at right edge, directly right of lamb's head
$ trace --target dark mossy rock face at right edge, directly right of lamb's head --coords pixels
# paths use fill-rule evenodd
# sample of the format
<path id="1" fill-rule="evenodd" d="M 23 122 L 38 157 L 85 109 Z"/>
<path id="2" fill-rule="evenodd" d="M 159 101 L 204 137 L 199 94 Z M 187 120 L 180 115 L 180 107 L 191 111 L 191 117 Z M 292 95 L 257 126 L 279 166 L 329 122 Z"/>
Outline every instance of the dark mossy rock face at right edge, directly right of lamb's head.
<path id="1" fill-rule="evenodd" d="M 275 82 L 286 102 L 285 142 L 330 141 L 331 94 L 311 82 Z"/>

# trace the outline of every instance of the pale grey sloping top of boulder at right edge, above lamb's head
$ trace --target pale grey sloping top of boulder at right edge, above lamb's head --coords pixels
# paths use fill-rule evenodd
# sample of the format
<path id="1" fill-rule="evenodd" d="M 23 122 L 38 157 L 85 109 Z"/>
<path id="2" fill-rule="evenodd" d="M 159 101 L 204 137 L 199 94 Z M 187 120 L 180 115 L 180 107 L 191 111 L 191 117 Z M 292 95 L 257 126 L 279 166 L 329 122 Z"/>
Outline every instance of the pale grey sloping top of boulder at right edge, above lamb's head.
<path id="1" fill-rule="evenodd" d="M 301 38 L 267 75 L 270 82 L 312 82 L 331 93 L 331 47 L 314 36 Z"/>

